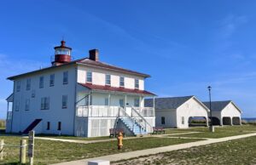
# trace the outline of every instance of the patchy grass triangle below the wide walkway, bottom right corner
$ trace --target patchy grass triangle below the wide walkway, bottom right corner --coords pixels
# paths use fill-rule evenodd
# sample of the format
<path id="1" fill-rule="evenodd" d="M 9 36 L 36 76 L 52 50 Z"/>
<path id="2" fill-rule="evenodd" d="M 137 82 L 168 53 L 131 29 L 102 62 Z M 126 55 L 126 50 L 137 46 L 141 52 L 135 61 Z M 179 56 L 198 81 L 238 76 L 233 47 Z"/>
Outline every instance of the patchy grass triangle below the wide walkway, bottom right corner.
<path id="1" fill-rule="evenodd" d="M 113 164 L 256 164 L 256 136 L 142 156 Z"/>

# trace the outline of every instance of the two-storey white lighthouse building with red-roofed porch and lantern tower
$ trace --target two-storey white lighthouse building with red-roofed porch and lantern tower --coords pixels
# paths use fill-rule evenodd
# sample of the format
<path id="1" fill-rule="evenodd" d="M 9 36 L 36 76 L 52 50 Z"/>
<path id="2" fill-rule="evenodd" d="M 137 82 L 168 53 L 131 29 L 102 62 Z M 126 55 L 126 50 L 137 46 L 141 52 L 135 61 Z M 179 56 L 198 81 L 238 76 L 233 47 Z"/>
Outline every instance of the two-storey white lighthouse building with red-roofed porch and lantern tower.
<path id="1" fill-rule="evenodd" d="M 97 49 L 80 60 L 71 60 L 71 52 L 61 41 L 50 67 L 8 78 L 14 89 L 6 132 L 96 137 L 118 127 L 151 133 L 154 107 L 144 107 L 144 98 L 154 97 L 144 90 L 149 76 L 101 62 Z"/>

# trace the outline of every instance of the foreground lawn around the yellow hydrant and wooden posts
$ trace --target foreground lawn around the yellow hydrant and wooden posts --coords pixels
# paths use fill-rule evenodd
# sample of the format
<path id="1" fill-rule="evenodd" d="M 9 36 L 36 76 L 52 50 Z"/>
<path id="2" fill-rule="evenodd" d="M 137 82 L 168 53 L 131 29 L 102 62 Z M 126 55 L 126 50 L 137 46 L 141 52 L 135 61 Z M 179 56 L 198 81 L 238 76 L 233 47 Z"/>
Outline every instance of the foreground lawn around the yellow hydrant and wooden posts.
<path id="1" fill-rule="evenodd" d="M 4 143 L 9 145 L 19 145 L 20 137 L 1 136 Z M 142 138 L 124 139 L 124 147 L 117 150 L 117 141 L 99 142 L 93 144 L 76 144 L 61 141 L 51 141 L 45 139 L 35 139 L 35 164 L 50 164 L 55 162 L 67 162 L 85 159 L 95 156 L 105 156 L 119 152 L 137 151 L 154 147 L 177 145 L 198 141 L 201 139 L 168 139 L 168 138 Z M 4 148 L 4 164 L 17 164 L 19 161 L 19 148 L 6 146 Z"/>

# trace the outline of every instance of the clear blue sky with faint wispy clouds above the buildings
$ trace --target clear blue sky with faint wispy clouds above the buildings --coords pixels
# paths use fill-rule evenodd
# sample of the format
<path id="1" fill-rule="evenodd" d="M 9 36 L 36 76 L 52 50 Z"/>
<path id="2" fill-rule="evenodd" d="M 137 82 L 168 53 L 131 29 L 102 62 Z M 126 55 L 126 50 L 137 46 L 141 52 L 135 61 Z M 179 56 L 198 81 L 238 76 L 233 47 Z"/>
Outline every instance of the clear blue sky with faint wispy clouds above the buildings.
<path id="1" fill-rule="evenodd" d="M 22 72 L 50 65 L 64 37 L 75 59 L 100 60 L 152 77 L 161 97 L 234 100 L 256 117 L 256 1 L 1 1 L 0 118 Z"/>

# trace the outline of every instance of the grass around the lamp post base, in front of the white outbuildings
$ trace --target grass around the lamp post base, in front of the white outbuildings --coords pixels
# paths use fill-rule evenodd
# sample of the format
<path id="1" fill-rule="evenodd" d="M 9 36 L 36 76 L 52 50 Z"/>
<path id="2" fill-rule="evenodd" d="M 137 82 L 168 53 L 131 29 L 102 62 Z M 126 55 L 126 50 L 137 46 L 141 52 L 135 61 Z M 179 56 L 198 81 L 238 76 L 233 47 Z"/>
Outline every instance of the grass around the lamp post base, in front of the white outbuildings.
<path id="1" fill-rule="evenodd" d="M 256 127 L 253 125 L 243 126 L 225 126 L 215 128 L 215 132 L 209 132 L 208 128 L 190 128 L 191 132 L 200 132 L 197 134 L 180 134 L 170 135 L 175 137 L 192 137 L 192 138 L 224 138 L 228 136 L 235 136 L 240 134 L 250 134 L 252 131 L 256 132 Z"/>

